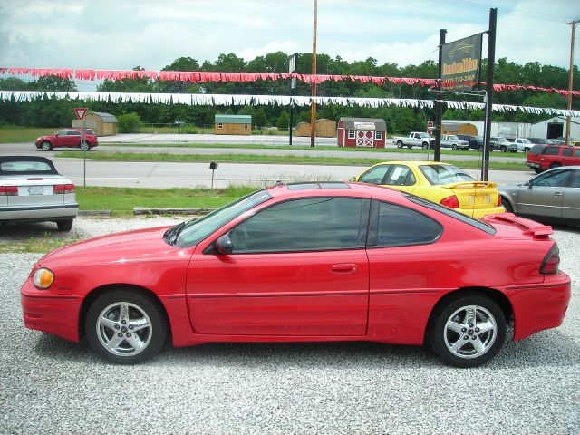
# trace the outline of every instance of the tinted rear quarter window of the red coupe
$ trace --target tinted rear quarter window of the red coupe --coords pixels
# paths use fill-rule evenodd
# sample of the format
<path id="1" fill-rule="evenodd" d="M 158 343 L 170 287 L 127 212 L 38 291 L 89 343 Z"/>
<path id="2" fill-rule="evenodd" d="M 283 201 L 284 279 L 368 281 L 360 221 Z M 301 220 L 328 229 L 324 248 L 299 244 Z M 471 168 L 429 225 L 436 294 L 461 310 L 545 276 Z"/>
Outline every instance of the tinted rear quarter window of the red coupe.
<path id="1" fill-rule="evenodd" d="M 379 202 L 376 247 L 424 245 L 437 240 L 443 227 L 411 208 Z"/>

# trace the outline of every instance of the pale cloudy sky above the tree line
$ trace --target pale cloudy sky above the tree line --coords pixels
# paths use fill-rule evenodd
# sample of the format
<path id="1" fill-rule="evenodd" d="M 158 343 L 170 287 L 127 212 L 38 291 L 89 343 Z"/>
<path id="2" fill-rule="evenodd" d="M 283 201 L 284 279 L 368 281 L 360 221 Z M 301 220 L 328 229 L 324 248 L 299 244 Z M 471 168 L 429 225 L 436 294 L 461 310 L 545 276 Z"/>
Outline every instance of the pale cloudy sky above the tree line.
<path id="1" fill-rule="evenodd" d="M 580 0 L 318 0 L 316 51 L 349 62 L 437 62 L 439 30 L 447 42 L 484 32 L 490 7 L 496 59 L 568 69 L 566 23 L 580 19 Z M 0 67 L 159 71 L 179 57 L 312 53 L 313 15 L 314 0 L 0 0 Z M 580 26 L 575 65 L 579 40 Z"/>

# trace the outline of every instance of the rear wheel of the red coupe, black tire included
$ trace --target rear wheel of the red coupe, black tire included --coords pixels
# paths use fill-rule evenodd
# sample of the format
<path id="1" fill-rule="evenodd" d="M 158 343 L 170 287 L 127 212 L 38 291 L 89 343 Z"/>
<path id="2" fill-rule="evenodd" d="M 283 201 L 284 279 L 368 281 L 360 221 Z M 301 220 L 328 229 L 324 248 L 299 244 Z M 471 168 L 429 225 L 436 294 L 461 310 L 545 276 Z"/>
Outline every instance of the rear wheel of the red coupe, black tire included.
<path id="1" fill-rule="evenodd" d="M 478 324 L 486 330 L 482 332 Z M 428 337 L 443 362 L 460 368 L 478 367 L 491 360 L 503 346 L 506 318 L 498 304 L 487 296 L 462 293 L 435 309 Z"/>

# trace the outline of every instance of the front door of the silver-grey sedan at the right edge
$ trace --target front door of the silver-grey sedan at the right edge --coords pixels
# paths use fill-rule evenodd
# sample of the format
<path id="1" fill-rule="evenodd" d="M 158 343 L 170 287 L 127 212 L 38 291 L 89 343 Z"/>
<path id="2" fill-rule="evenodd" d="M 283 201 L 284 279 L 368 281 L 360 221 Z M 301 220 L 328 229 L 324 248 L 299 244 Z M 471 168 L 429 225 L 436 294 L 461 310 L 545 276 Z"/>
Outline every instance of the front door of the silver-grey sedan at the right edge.
<path id="1" fill-rule="evenodd" d="M 562 197 L 571 171 L 552 169 L 531 179 L 517 192 L 517 210 L 522 215 L 562 218 Z"/>

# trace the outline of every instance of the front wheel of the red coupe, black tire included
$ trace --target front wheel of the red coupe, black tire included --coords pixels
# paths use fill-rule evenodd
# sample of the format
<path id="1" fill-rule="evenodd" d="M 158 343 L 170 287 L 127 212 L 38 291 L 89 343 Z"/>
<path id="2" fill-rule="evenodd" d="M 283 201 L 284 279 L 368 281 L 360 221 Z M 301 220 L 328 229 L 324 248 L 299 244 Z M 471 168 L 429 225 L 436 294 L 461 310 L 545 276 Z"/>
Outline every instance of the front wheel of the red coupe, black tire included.
<path id="1" fill-rule="evenodd" d="M 137 364 L 158 353 L 167 338 L 167 325 L 160 305 L 131 289 L 99 296 L 84 324 L 92 350 L 118 364 Z M 111 344 L 111 349 L 106 344 Z"/>

